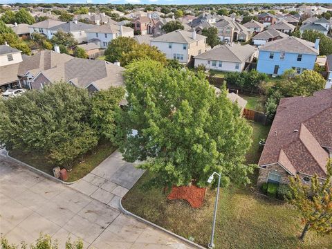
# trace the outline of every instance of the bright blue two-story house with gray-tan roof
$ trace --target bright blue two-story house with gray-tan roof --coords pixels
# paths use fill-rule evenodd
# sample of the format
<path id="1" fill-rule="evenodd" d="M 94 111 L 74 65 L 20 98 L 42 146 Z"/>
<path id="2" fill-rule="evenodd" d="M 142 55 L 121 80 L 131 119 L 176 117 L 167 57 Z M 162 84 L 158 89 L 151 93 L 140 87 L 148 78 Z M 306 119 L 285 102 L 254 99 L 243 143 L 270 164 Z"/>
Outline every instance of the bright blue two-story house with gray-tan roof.
<path id="1" fill-rule="evenodd" d="M 257 71 L 270 75 L 282 75 L 287 69 L 302 73 L 313 70 L 319 55 L 319 39 L 315 43 L 297 37 L 286 37 L 267 42 L 260 50 Z"/>

